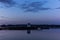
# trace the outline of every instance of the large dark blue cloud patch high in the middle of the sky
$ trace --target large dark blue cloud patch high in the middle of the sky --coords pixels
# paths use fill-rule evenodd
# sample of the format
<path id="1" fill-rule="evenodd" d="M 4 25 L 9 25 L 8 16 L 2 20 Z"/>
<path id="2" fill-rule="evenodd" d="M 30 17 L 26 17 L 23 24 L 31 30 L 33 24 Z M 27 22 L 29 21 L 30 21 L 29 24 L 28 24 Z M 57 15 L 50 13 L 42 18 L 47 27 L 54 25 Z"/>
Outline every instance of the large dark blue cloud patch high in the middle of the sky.
<path id="1" fill-rule="evenodd" d="M 50 8 L 45 8 L 43 5 L 46 3 L 45 2 L 32 2 L 32 3 L 27 3 L 27 4 L 22 4 L 21 8 L 24 9 L 26 12 L 38 12 L 40 10 L 48 10 Z"/>

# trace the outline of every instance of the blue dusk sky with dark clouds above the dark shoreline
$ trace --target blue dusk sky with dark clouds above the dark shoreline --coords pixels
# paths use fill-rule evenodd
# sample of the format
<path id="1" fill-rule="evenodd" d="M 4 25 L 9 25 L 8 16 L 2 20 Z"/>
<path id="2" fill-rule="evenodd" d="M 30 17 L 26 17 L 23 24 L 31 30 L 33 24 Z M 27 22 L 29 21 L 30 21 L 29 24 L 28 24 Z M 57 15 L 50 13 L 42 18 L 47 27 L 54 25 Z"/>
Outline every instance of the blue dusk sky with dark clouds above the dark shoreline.
<path id="1" fill-rule="evenodd" d="M 0 24 L 60 24 L 60 0 L 0 0 Z"/>

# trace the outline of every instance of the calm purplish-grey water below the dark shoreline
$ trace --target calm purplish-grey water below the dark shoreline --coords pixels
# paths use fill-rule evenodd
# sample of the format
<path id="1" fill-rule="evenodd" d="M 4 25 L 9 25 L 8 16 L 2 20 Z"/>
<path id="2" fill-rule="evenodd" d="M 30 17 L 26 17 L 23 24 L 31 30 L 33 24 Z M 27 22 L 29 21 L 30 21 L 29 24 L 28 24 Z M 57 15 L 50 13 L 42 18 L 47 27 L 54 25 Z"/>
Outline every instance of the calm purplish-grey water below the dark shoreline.
<path id="1" fill-rule="evenodd" d="M 34 30 L 31 34 L 26 30 L 1 30 L 0 40 L 60 40 L 60 29 Z"/>

